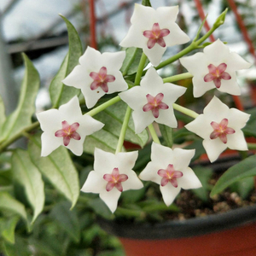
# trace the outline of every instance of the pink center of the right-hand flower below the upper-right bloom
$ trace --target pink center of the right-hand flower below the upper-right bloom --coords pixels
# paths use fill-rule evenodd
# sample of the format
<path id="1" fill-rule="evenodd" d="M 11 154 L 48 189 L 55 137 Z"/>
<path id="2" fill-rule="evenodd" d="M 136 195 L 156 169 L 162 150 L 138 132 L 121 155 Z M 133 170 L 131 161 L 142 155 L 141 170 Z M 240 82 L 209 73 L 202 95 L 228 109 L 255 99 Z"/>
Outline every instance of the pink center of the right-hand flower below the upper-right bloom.
<path id="1" fill-rule="evenodd" d="M 210 138 L 215 139 L 219 137 L 224 144 L 227 143 L 227 134 L 233 134 L 236 132 L 233 128 L 228 127 L 228 123 L 228 119 L 222 119 L 219 124 L 212 121 L 211 125 L 214 131 L 210 134 Z"/>

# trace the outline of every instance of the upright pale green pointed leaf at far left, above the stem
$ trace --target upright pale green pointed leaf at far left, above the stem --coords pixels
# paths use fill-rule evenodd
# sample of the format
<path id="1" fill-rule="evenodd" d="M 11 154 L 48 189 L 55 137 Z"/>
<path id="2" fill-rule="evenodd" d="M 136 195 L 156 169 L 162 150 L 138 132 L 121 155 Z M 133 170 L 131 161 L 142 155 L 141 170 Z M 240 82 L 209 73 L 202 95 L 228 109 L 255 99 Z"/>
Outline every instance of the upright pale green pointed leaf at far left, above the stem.
<path id="1" fill-rule="evenodd" d="M 38 71 L 25 54 L 22 54 L 26 73 L 21 84 L 18 106 L 3 124 L 0 140 L 14 137 L 27 125 L 32 124 L 32 114 L 35 112 L 35 99 L 38 95 L 40 79 Z"/>

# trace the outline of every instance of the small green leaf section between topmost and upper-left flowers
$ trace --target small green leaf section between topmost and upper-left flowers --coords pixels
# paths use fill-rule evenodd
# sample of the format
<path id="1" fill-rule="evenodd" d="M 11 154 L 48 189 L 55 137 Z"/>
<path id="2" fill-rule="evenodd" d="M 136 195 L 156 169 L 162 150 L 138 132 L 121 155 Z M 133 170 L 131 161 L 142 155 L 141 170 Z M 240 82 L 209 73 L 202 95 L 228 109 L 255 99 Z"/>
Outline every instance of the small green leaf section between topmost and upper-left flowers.
<path id="1" fill-rule="evenodd" d="M 135 47 L 130 47 L 125 49 L 125 61 L 120 69 L 123 75 L 132 75 L 137 73 L 138 65 L 141 61 L 143 55 L 143 49 L 138 49 Z M 148 60 L 146 61 L 145 66 L 148 65 Z"/>

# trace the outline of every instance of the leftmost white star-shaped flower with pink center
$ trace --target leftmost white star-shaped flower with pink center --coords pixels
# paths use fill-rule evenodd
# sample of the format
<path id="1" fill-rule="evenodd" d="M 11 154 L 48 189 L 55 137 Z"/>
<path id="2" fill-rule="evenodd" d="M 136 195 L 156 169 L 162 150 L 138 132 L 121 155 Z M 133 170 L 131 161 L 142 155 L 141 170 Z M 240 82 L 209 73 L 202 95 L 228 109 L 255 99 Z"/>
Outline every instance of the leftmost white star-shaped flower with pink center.
<path id="1" fill-rule="evenodd" d="M 73 154 L 81 155 L 85 137 L 104 126 L 90 115 L 82 114 L 77 96 L 59 109 L 37 113 L 37 117 L 44 131 L 41 137 L 42 156 L 47 156 L 61 145 Z"/>

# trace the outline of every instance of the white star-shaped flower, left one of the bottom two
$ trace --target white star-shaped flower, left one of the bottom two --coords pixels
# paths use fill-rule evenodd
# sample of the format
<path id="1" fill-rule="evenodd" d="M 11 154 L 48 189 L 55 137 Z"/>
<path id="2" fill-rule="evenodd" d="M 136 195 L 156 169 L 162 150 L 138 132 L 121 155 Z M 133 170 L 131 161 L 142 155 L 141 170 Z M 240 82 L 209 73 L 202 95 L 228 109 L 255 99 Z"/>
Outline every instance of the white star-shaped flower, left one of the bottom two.
<path id="1" fill-rule="evenodd" d="M 96 148 L 94 170 L 89 173 L 81 191 L 99 194 L 114 212 L 122 191 L 143 188 L 143 183 L 131 170 L 137 154 L 137 151 L 112 154 Z"/>

